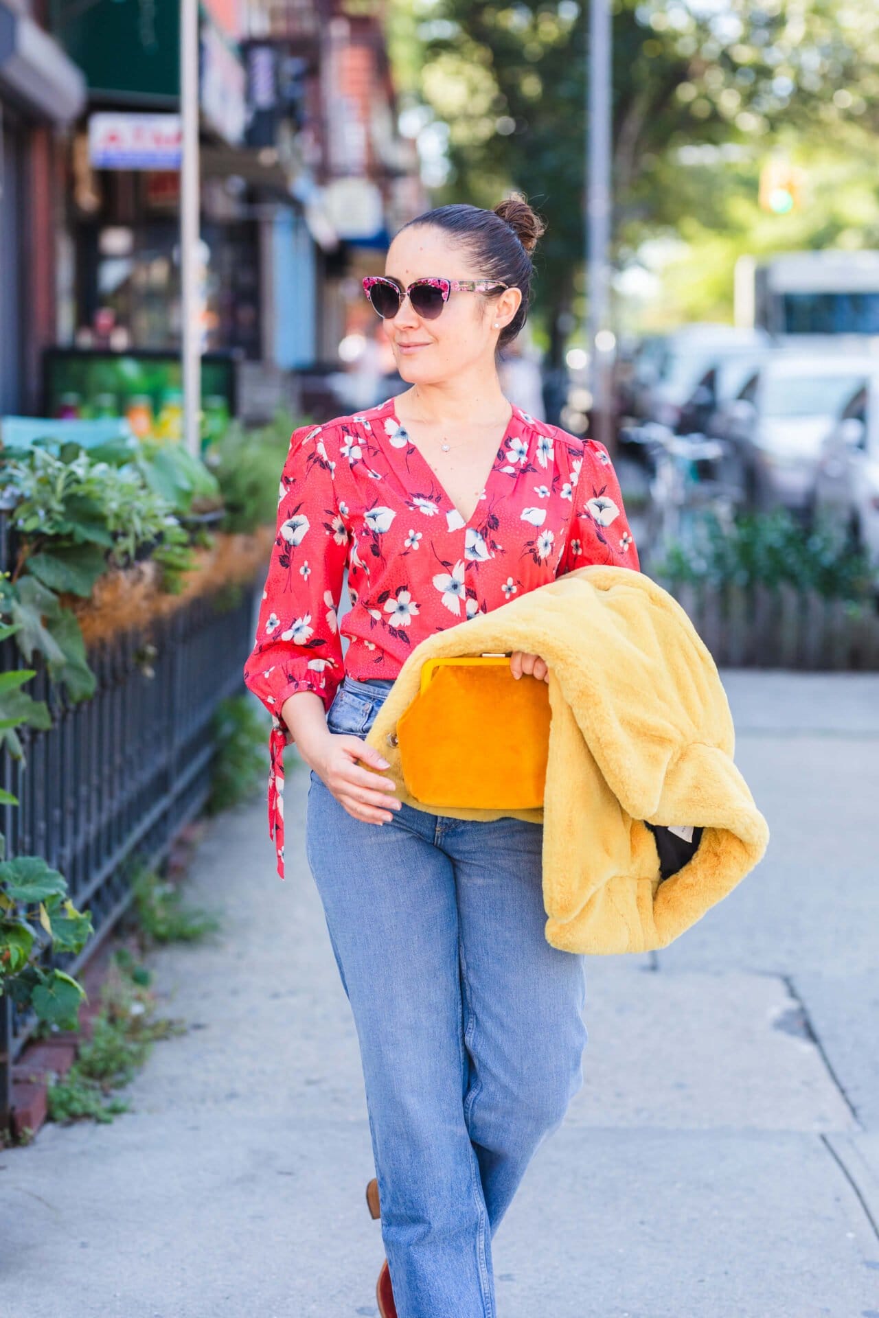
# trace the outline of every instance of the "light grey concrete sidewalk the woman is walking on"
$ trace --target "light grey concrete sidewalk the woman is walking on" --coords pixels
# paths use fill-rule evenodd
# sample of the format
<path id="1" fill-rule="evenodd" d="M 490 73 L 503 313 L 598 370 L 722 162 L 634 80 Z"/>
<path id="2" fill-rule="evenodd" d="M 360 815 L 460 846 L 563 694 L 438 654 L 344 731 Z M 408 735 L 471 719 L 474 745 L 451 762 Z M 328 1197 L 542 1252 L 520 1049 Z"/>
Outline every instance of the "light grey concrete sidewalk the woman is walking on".
<path id="1" fill-rule="evenodd" d="M 494 1240 L 498 1318 L 879 1318 L 879 675 L 722 673 L 766 858 L 664 952 L 588 963 L 585 1086 Z M 294 768 L 295 764 L 295 768 Z M 374 1315 L 357 1039 L 303 846 L 216 821 L 109 1126 L 0 1153 L 1 1318 Z M 470 1318 L 470 1315 L 461 1315 Z"/>

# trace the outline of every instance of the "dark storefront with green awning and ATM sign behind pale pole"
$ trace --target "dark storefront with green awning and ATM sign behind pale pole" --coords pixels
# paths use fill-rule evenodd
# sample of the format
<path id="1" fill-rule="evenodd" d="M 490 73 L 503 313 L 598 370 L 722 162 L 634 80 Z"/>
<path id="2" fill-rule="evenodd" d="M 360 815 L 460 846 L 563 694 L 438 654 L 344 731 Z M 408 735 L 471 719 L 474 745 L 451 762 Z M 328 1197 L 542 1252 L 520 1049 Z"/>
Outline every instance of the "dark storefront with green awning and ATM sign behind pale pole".
<path id="1" fill-rule="evenodd" d="M 163 161 L 169 140 L 159 133 L 178 108 L 175 5 L 157 7 L 149 33 L 136 8 L 99 0 L 100 21 L 90 11 L 65 25 L 67 49 L 83 62 L 90 87 L 90 113 L 71 153 L 67 216 L 80 348 L 181 345 L 179 171 Z M 203 148 L 208 156 L 223 148 L 233 157 L 220 186 L 203 192 L 202 347 L 256 360 L 262 352 L 260 229 L 246 204 L 248 185 L 235 174 L 235 153 L 244 154 L 246 74 L 235 43 L 206 11 L 199 82 Z M 127 134 L 142 144 L 150 123 L 158 125 L 156 159 L 141 152 L 125 167 L 125 153 L 101 150 L 99 121 L 109 124 L 104 141 L 116 144 Z M 203 170 L 206 185 L 208 173 Z"/>

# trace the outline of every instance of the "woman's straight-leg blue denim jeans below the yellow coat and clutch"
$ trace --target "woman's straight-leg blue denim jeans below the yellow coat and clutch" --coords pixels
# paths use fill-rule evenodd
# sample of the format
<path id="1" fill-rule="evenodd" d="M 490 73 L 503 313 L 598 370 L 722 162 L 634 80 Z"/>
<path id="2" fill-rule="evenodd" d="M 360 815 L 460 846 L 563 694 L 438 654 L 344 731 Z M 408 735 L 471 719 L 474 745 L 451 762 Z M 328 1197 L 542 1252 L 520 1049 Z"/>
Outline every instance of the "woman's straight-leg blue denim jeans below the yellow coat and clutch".
<path id="1" fill-rule="evenodd" d="M 329 731 L 365 737 L 391 685 L 345 676 Z M 492 1238 L 582 1085 L 585 956 L 546 940 L 542 844 L 511 816 L 403 803 L 357 820 L 311 771 L 306 851 L 357 1029 L 399 1318 L 496 1318 Z"/>

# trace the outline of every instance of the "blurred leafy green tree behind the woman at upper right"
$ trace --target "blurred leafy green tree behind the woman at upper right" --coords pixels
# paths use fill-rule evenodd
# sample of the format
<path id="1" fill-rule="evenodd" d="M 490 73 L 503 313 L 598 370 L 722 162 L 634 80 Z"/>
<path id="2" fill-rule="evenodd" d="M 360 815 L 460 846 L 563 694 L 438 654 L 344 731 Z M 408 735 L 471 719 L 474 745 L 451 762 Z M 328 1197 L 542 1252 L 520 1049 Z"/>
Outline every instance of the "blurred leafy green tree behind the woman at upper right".
<path id="1" fill-rule="evenodd" d="M 879 116 L 879 12 L 836 0 L 615 0 L 614 241 L 618 265 L 696 212 L 730 224 L 737 188 L 756 196 L 779 130 L 826 144 Z M 410 104 L 445 137 L 436 203 L 493 207 L 521 188 L 548 223 L 535 312 L 551 360 L 582 318 L 588 9 L 577 0 L 394 0 L 391 59 Z M 738 148 L 709 173 L 687 149 Z M 681 149 L 684 157 L 681 158 Z M 727 169 L 727 163 L 731 169 Z M 712 186 L 710 179 L 720 179 Z"/>

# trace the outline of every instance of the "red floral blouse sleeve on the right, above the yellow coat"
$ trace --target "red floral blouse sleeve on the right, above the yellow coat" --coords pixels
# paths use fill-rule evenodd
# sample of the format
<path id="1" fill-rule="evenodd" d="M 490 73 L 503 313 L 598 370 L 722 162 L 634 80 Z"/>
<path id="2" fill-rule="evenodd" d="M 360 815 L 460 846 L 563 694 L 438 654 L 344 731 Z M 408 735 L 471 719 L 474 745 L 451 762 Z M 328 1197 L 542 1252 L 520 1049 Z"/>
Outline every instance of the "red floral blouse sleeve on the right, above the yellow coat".
<path id="1" fill-rule="evenodd" d="M 619 481 L 610 455 L 596 439 L 584 443 L 573 509 L 556 576 L 584 568 L 589 563 L 633 568 L 640 572 Z"/>

